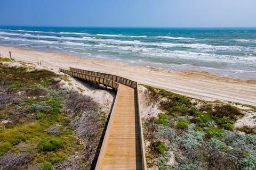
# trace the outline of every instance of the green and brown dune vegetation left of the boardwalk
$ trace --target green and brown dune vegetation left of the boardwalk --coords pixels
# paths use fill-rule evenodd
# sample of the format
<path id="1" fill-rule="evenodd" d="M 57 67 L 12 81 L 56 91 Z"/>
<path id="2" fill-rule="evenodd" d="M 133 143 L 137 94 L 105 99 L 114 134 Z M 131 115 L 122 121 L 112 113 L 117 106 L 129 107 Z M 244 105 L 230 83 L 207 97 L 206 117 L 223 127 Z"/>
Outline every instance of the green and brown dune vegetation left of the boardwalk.
<path id="1" fill-rule="evenodd" d="M 107 115 L 62 79 L 0 63 L 0 169 L 92 168 Z"/>

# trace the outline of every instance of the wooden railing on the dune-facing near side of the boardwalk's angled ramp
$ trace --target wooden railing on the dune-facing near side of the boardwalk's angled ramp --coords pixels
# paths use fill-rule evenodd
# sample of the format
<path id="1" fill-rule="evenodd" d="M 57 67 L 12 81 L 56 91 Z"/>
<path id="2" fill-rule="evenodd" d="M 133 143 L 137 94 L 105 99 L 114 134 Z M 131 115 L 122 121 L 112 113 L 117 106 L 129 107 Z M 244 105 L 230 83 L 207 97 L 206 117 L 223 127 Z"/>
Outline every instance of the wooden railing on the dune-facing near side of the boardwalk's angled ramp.
<path id="1" fill-rule="evenodd" d="M 118 89 L 119 84 L 106 79 L 106 78 L 102 78 L 102 77 L 97 77 L 91 74 L 85 74 L 85 73 L 79 73 L 79 72 L 74 72 L 74 71 L 69 71 L 69 70 L 64 70 L 64 69 L 60 69 L 60 72 L 63 72 L 65 74 L 71 75 L 73 77 L 82 79 L 82 80 L 86 80 L 86 81 L 90 81 L 90 82 L 94 82 L 94 83 L 99 83 L 99 84 L 103 84 L 107 87 L 111 87 L 115 90 Z"/>

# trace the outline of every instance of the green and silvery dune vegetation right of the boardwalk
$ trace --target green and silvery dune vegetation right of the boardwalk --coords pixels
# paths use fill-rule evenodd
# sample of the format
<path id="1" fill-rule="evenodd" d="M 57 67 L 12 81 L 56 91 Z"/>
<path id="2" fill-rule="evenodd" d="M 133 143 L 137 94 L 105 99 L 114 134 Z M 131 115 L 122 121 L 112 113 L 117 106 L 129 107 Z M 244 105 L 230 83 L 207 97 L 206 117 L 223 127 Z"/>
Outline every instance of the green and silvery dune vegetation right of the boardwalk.
<path id="1" fill-rule="evenodd" d="M 147 102 L 162 111 L 143 120 L 149 169 L 256 168 L 255 126 L 234 128 L 243 109 L 145 87 Z"/>

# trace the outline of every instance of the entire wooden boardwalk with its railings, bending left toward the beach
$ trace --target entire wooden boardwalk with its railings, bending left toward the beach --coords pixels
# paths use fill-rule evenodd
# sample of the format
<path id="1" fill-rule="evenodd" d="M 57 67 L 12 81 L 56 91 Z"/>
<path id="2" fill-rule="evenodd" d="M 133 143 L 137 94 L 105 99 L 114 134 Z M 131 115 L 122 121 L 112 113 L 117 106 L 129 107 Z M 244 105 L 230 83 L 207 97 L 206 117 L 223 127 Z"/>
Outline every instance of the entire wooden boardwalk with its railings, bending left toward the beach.
<path id="1" fill-rule="evenodd" d="M 60 71 L 118 89 L 95 169 L 147 169 L 137 82 L 74 68 Z"/>

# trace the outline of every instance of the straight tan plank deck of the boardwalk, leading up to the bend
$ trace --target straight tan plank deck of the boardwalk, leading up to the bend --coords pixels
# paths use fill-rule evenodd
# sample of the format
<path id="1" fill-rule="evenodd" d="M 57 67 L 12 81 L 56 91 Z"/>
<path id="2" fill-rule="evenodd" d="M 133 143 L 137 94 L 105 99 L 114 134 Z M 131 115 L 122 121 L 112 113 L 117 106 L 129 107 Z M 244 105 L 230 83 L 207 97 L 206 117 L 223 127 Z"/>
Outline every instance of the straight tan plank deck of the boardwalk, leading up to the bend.
<path id="1" fill-rule="evenodd" d="M 113 125 L 100 169 L 142 169 L 137 96 L 120 84 Z"/>

